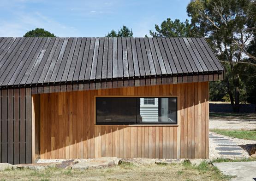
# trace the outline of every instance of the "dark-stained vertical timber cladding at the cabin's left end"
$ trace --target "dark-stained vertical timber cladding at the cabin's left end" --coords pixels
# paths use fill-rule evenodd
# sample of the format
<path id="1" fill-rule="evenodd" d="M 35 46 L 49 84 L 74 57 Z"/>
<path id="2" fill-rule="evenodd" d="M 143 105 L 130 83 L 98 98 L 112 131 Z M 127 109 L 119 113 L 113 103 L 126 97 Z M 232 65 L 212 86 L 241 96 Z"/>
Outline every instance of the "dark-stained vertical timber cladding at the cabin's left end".
<path id="1" fill-rule="evenodd" d="M 0 163 L 31 163 L 31 89 L 0 90 Z"/>

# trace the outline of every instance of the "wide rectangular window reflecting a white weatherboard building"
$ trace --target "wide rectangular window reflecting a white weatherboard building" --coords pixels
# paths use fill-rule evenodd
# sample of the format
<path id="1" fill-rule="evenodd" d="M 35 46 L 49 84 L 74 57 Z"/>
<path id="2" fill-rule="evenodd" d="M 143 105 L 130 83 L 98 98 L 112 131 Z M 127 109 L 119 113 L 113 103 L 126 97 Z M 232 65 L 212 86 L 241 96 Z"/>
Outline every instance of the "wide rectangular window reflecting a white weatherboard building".
<path id="1" fill-rule="evenodd" d="M 177 97 L 96 97 L 96 124 L 177 124 Z"/>

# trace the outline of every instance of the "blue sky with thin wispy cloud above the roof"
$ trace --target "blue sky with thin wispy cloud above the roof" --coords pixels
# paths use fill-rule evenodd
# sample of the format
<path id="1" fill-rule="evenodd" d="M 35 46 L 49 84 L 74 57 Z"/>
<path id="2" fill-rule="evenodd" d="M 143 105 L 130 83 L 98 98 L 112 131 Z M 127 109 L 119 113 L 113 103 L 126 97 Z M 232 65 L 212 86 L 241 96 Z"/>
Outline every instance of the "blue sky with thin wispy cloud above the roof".
<path id="1" fill-rule="evenodd" d="M 1 0 L 0 37 L 44 28 L 59 37 L 102 37 L 123 24 L 149 35 L 170 17 L 185 21 L 190 0 Z"/>

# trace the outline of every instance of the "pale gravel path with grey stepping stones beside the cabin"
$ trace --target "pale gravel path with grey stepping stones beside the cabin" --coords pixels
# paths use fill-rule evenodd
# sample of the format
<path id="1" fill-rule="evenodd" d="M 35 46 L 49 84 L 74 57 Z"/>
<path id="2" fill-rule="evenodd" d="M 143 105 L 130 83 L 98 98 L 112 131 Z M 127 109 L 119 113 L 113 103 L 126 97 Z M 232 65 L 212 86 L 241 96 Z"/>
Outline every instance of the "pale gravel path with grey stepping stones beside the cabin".
<path id="1" fill-rule="evenodd" d="M 255 144 L 253 140 L 243 140 L 209 132 L 209 158 L 249 158 L 249 154 L 238 145 Z"/>

